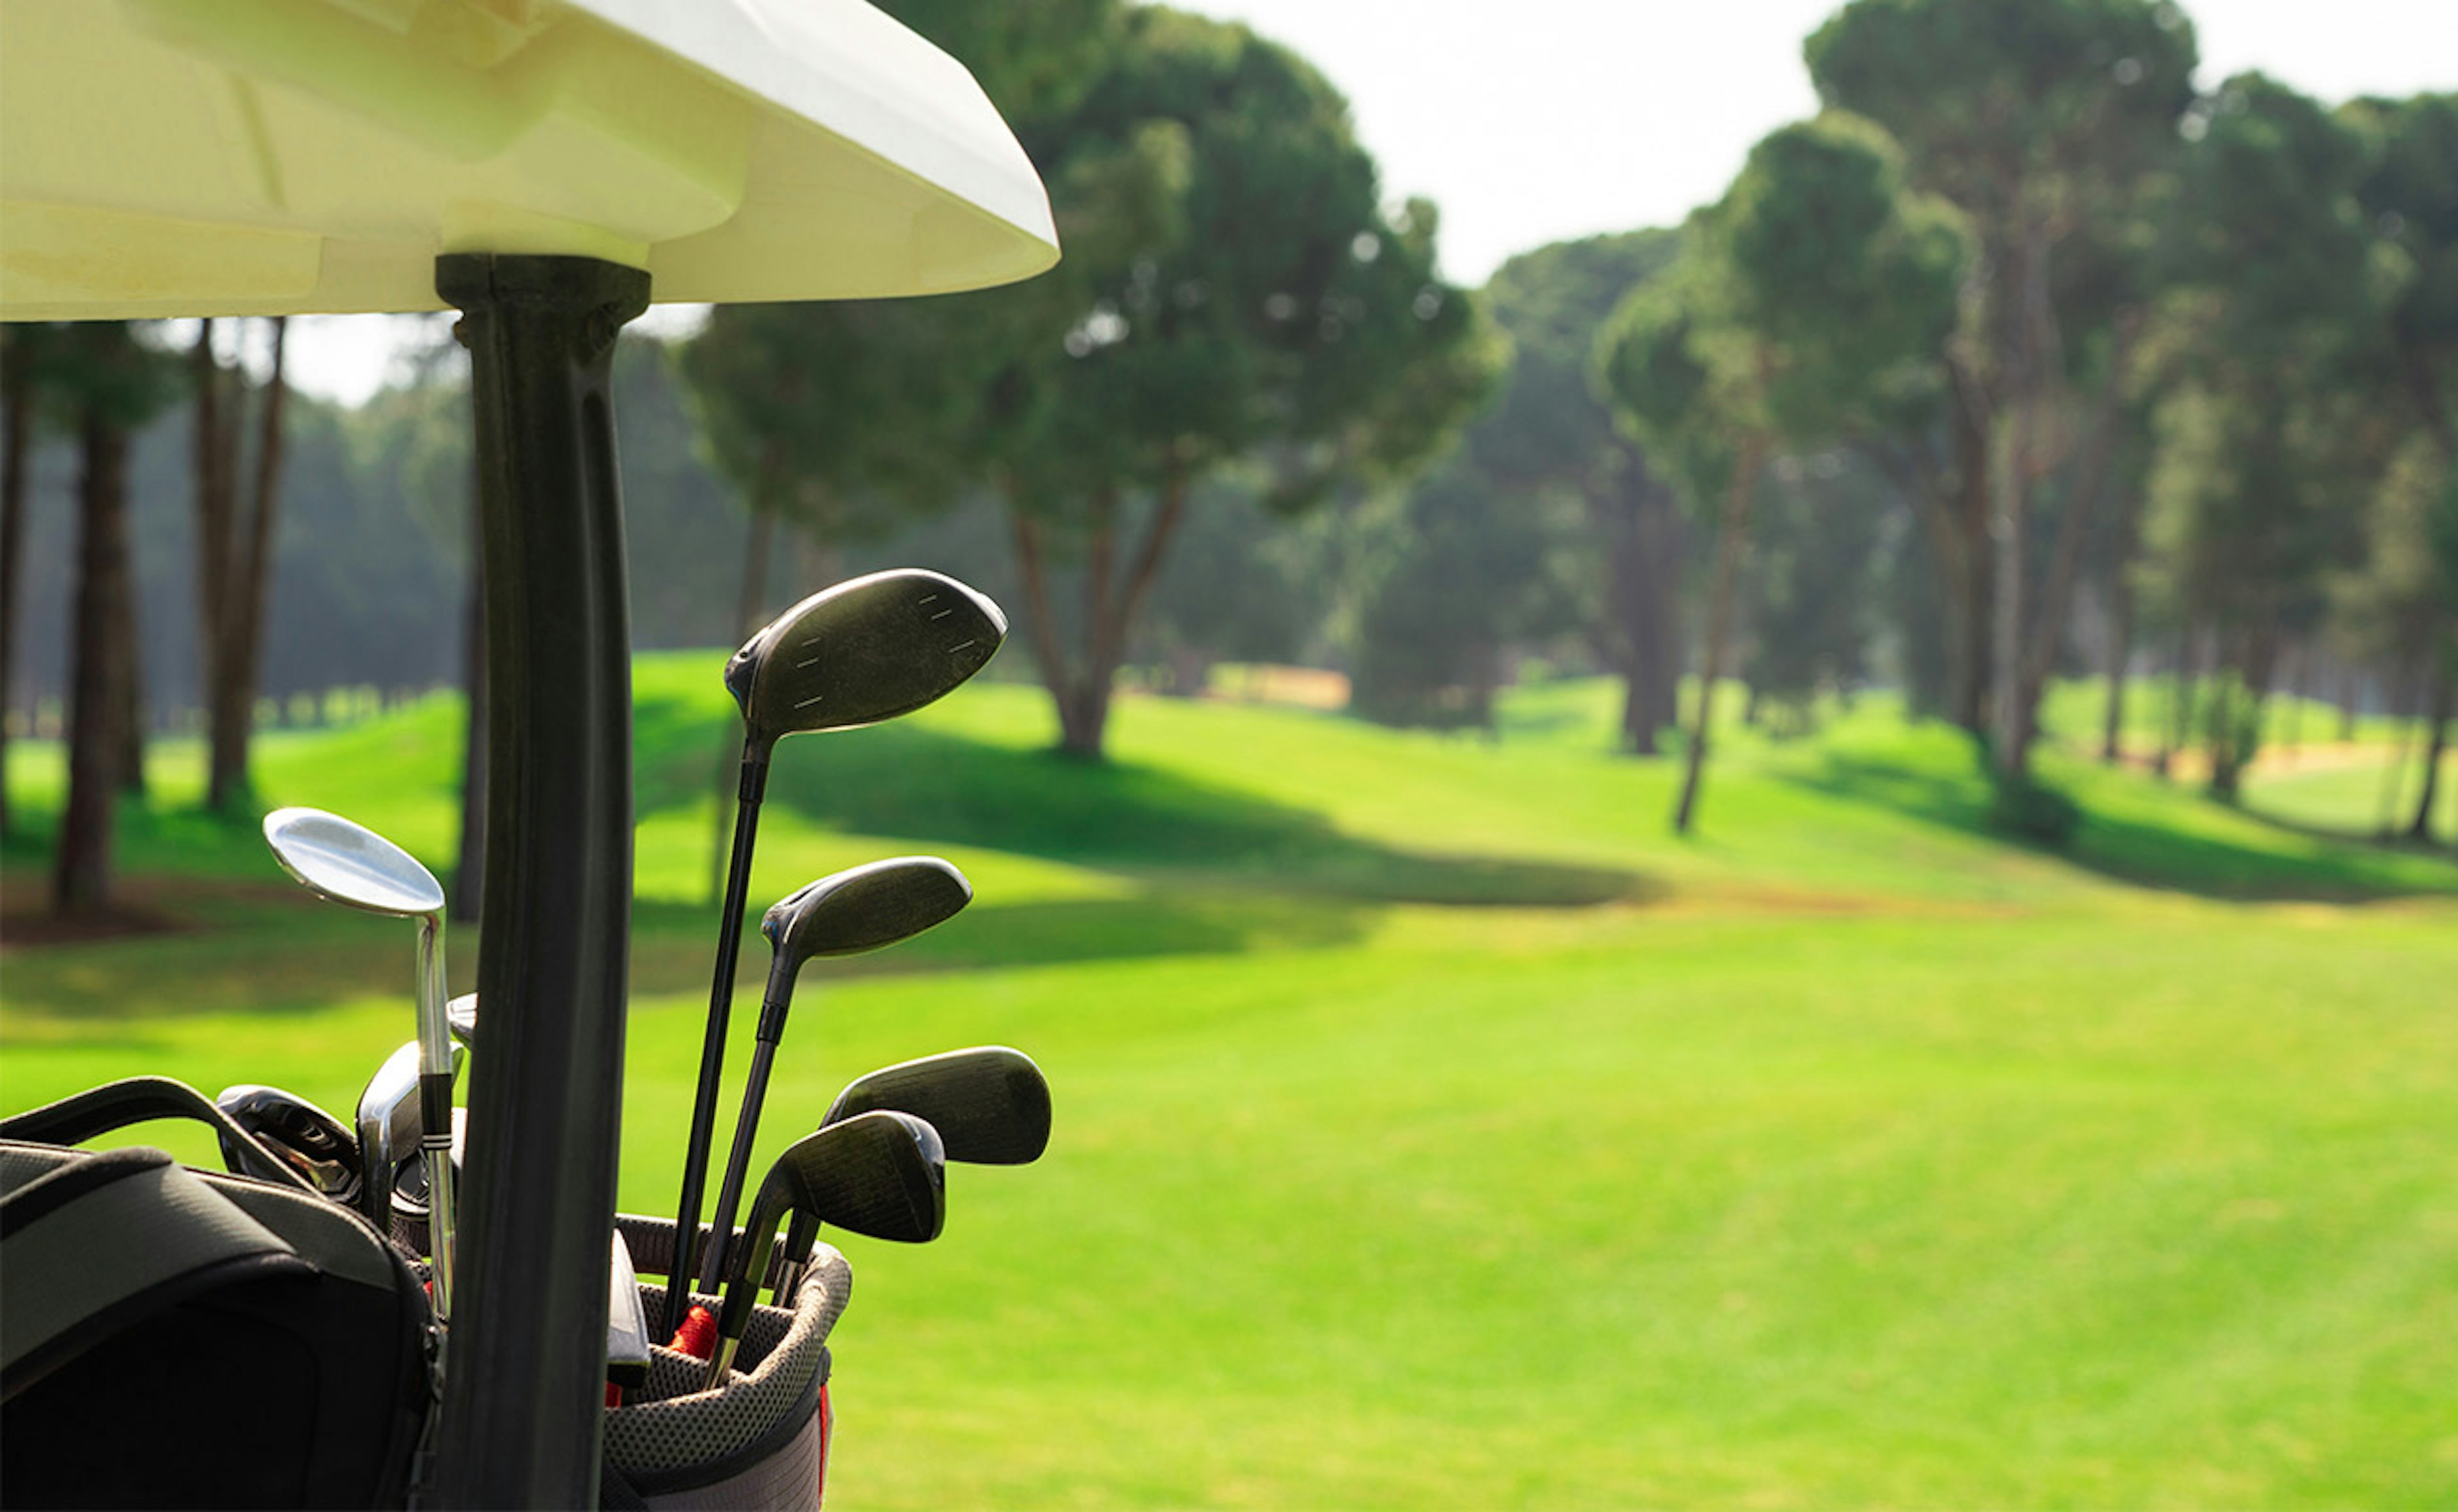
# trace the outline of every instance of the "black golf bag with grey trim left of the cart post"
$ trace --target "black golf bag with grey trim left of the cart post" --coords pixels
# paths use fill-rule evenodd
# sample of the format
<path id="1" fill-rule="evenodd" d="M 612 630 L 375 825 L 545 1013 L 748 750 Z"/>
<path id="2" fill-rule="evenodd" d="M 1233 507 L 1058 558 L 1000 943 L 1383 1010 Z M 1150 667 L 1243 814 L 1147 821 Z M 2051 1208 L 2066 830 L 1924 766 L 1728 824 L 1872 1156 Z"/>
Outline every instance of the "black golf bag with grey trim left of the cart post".
<path id="1" fill-rule="evenodd" d="M 425 1293 L 302 1183 L 66 1148 L 172 1116 L 248 1138 L 165 1077 L 0 1121 L 0 1505 L 401 1507 Z"/>

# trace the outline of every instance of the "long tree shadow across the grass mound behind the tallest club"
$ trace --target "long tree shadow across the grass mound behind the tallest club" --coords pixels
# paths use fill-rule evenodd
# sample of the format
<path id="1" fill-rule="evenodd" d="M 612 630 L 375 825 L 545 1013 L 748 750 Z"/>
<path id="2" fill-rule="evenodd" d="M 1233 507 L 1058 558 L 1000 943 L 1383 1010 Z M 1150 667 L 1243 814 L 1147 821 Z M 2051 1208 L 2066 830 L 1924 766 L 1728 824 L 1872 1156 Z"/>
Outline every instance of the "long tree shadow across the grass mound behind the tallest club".
<path id="1" fill-rule="evenodd" d="M 696 713 L 696 711 L 693 711 Z M 644 706 L 639 806 L 705 801 L 723 730 Z M 1359 905 L 1593 907 L 1664 895 L 1644 873 L 1396 851 L 1320 814 L 1131 762 L 961 740 L 922 725 L 784 745 L 767 801 L 843 831 L 981 846 L 1222 888 Z"/>

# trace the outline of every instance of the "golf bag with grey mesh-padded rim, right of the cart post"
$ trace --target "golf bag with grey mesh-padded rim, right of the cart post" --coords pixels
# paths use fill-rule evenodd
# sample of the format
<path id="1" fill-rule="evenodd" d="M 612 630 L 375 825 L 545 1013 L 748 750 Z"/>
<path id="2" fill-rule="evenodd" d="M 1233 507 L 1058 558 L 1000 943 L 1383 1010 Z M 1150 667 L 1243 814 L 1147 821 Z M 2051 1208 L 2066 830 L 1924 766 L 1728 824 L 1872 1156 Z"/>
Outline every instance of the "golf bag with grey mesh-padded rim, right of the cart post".
<path id="1" fill-rule="evenodd" d="M 614 1227 L 644 1274 L 673 1264 L 671 1219 L 619 1215 Z M 705 1244 L 703 1224 L 698 1246 Z M 624 1406 L 607 1409 L 605 1505 L 819 1507 L 828 1453 L 828 1333 L 853 1296 L 853 1266 L 828 1244 L 814 1246 L 809 1261 L 791 1308 L 752 1310 L 725 1387 L 703 1389 L 705 1360 L 649 1347 L 649 1382 L 627 1392 Z M 782 1264 L 784 1256 L 762 1283 L 774 1283 Z M 642 1281 L 639 1291 L 654 1318 L 666 1288 Z M 693 1296 L 710 1310 L 720 1303 Z"/>

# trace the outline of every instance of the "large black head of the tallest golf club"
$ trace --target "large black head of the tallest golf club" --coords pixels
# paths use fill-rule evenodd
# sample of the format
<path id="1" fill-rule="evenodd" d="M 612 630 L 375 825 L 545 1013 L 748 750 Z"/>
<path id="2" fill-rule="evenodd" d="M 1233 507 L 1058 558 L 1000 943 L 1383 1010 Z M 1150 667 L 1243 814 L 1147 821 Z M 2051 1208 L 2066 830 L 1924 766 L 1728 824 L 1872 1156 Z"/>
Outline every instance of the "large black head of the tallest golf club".
<path id="1" fill-rule="evenodd" d="M 944 698 L 1005 637 L 1008 617 L 988 597 L 895 568 L 779 615 L 725 664 L 725 688 L 742 706 L 747 752 L 767 760 L 784 735 L 875 725 Z"/>

